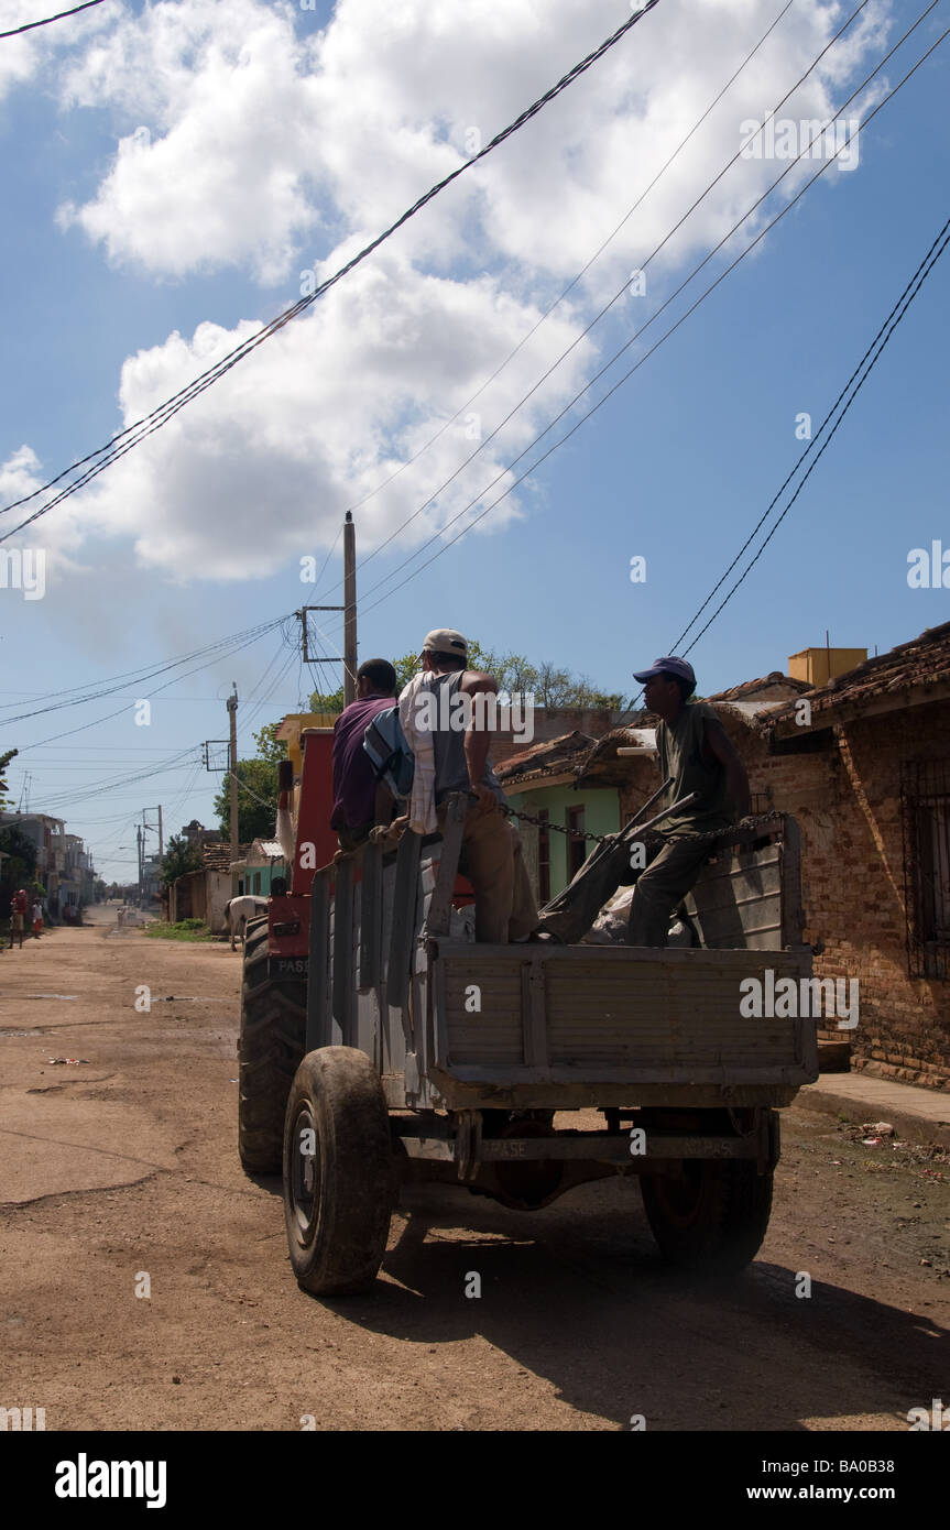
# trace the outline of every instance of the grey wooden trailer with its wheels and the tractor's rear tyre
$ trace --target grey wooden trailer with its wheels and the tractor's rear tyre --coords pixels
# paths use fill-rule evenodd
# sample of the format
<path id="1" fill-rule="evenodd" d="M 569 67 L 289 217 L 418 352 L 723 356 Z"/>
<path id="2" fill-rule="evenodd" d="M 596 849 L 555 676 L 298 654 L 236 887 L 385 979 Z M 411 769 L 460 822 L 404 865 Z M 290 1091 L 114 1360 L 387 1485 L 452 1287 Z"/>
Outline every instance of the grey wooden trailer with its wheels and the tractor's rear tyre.
<path id="1" fill-rule="evenodd" d="M 818 1076 L 808 1005 L 743 1001 L 750 979 L 811 979 L 794 819 L 724 831 L 687 900 L 701 944 L 649 950 L 476 944 L 465 811 L 450 802 L 444 837 L 337 857 L 248 926 L 240 1155 L 283 1172 L 300 1285 L 370 1285 L 401 1187 L 424 1181 L 538 1210 L 636 1178 L 669 1264 L 745 1268 L 777 1112 Z"/>

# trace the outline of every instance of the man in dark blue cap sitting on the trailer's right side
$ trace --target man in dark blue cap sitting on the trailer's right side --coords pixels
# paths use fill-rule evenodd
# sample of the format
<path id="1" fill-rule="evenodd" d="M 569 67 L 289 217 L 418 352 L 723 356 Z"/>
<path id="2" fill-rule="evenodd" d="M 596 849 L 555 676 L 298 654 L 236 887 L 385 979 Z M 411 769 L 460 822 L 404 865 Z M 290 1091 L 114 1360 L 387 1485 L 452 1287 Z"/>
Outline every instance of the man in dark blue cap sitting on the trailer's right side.
<path id="1" fill-rule="evenodd" d="M 633 890 L 630 946 L 665 946 L 670 915 L 693 887 L 710 854 L 708 843 L 698 845 L 695 835 L 727 829 L 748 814 L 748 776 L 714 710 L 690 699 L 696 675 L 687 659 L 655 659 L 633 679 L 644 688 L 647 711 L 661 719 L 656 753 L 661 779 L 673 782 L 669 803 L 693 793 L 699 797 L 682 812 L 664 819 L 665 845 L 639 874 Z"/>

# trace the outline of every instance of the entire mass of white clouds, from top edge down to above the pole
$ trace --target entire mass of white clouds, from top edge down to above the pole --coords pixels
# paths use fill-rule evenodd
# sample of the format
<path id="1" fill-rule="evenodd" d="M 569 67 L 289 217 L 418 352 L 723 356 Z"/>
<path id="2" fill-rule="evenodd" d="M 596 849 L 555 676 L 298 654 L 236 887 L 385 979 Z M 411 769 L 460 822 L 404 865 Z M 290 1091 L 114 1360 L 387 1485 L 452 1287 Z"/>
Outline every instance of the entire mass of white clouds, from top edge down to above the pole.
<path id="1" fill-rule="evenodd" d="M 592 301 L 643 265 L 736 153 L 740 124 L 776 106 L 843 14 L 815 0 L 789 11 L 571 304 L 476 405 L 485 430 L 580 334 Z M 883 15 L 880 6 L 854 29 L 783 113 L 829 116 Z M 145 566 L 173 578 L 265 575 L 326 546 L 341 511 L 424 444 L 526 334 L 768 20 L 757 0 L 664 0 L 306 318 L 110 468 L 81 503 L 70 500 L 63 536 L 130 537 Z M 286 285 L 292 300 L 301 266 L 332 272 L 454 168 L 473 133 L 488 141 L 617 24 L 615 0 L 338 0 L 324 32 L 309 31 L 306 12 L 288 3 L 164 0 L 122 15 L 63 73 L 64 107 L 107 107 L 118 133 L 95 196 L 64 208 L 63 222 L 99 242 L 110 262 L 156 278 L 236 266 Z M 721 239 L 780 168 L 739 161 L 650 268 L 650 295 Z M 124 422 L 255 327 L 202 324 L 191 340 L 176 334 L 130 356 Z M 592 361 L 586 341 L 407 540 L 477 494 Z M 460 425 L 447 430 L 369 500 L 361 540 L 387 536 L 471 447 Z M 517 513 L 512 497 L 486 526 Z"/>

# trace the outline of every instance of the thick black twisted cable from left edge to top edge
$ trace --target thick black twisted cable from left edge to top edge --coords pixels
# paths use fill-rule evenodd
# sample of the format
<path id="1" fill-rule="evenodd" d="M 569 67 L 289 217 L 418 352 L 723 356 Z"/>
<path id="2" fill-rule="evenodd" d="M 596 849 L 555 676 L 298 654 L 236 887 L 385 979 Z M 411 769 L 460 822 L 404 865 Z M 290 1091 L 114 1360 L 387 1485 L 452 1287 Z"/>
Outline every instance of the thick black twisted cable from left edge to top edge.
<path id="1" fill-rule="evenodd" d="M 291 304 L 289 309 L 286 309 L 277 318 L 272 318 L 255 335 L 251 335 L 248 340 L 242 341 L 240 346 L 236 346 L 233 350 L 229 350 L 225 356 L 222 356 L 220 361 L 216 361 L 213 367 L 208 367 L 207 372 L 202 372 L 197 378 L 193 378 L 191 382 L 188 382 L 184 389 L 179 389 L 179 392 L 174 393 L 171 398 L 165 399 L 164 404 L 159 404 L 156 409 L 153 409 L 151 413 L 144 415 L 135 424 L 127 425 L 124 430 L 118 431 L 110 441 L 106 442 L 104 447 L 98 447 L 95 451 L 90 451 L 84 457 L 80 457 L 76 462 L 72 462 L 67 468 L 63 468 L 63 471 L 58 473 L 54 479 L 49 479 L 47 483 L 40 485 L 29 494 L 24 494 L 21 499 L 12 500 L 9 505 L 2 506 L 0 514 L 6 514 L 11 509 L 18 509 L 21 505 L 28 505 L 31 500 L 34 500 L 38 494 L 44 494 L 47 490 L 54 488 L 69 473 L 76 471 L 87 462 L 93 464 L 78 479 L 75 479 L 72 483 L 67 483 L 66 488 L 60 490 L 60 493 L 55 494 L 49 500 L 49 503 L 41 505 L 40 509 L 34 511 L 31 516 L 21 520 L 20 525 L 12 528 L 12 531 L 8 531 L 3 536 L 0 536 L 0 542 L 6 542 L 18 531 L 23 531 L 24 526 L 32 525 L 34 520 L 40 519 L 40 516 L 44 516 L 49 509 L 54 509 L 55 505 L 60 505 L 64 499 L 69 499 L 70 494 L 75 494 L 76 490 L 83 488 L 86 483 L 90 482 L 90 479 L 102 473 L 107 467 L 112 465 L 112 462 L 125 456 L 127 451 L 132 451 L 133 447 L 136 447 L 147 436 L 153 435 L 156 430 L 161 430 L 161 427 L 167 424 L 168 419 L 173 418 L 173 415 L 177 415 L 177 412 L 184 409 L 185 404 L 191 402 L 191 399 L 203 393 L 208 387 L 213 386 L 213 382 L 217 382 L 219 378 L 222 378 L 226 372 L 229 372 L 231 367 L 237 366 L 239 361 L 242 361 L 246 355 L 249 355 L 249 352 L 254 350 L 257 346 L 263 344 L 263 341 L 268 340 L 271 335 L 274 335 L 278 329 L 281 329 L 291 320 L 303 314 L 311 306 L 311 303 L 315 303 L 317 298 L 329 292 L 329 289 L 335 286 L 337 282 L 340 282 L 344 275 L 353 271 L 355 266 L 358 266 L 363 260 L 367 259 L 367 256 L 370 256 L 375 249 L 378 249 L 379 245 L 382 245 L 387 239 L 390 239 L 396 233 L 396 230 L 402 228 L 402 225 L 407 223 L 412 217 L 415 217 L 416 213 L 419 213 L 428 202 L 433 200 L 433 197 L 439 196 L 439 193 L 444 191 L 445 187 L 451 185 L 453 181 L 465 174 L 467 170 L 471 170 L 473 165 L 477 165 L 480 159 L 485 159 L 486 155 L 493 153 L 493 150 L 496 150 L 508 138 L 517 133 L 519 129 L 522 129 L 526 122 L 529 122 L 534 116 L 537 116 L 537 113 L 542 112 L 543 107 L 546 107 L 551 101 L 554 101 L 555 96 L 558 96 L 563 90 L 568 89 L 568 86 L 574 84 L 574 81 L 578 80 L 580 75 L 583 75 L 587 69 L 590 69 L 592 64 L 595 64 L 600 58 L 603 58 L 603 55 L 610 47 L 613 47 L 633 26 L 636 26 L 636 23 L 641 21 L 643 17 L 647 15 L 656 5 L 659 5 L 659 0 L 646 0 L 644 6 L 639 11 L 635 11 L 633 15 L 630 15 L 621 26 L 618 26 L 617 31 L 600 44 L 600 47 L 595 47 L 594 52 L 587 54 L 586 58 L 583 58 L 578 64 L 575 64 L 571 70 L 568 70 L 568 73 L 563 75 L 555 86 L 552 86 L 549 90 L 545 92 L 545 95 L 538 96 L 537 101 L 534 101 L 529 107 L 526 107 L 526 110 L 522 112 L 514 119 L 514 122 L 509 122 L 508 127 L 502 129 L 500 133 L 496 133 L 496 136 L 488 144 L 485 144 L 485 147 L 480 148 L 476 155 L 467 159 L 465 164 L 457 165 L 456 170 L 453 170 L 450 174 L 444 176 L 442 181 L 438 181 L 433 187 L 430 187 L 430 190 L 425 191 L 424 196 L 421 196 L 410 208 L 407 208 L 407 211 L 402 213 L 395 223 L 390 223 L 387 230 L 378 234 L 376 239 L 370 240 L 370 243 L 366 245 L 356 256 L 353 256 L 352 260 L 347 260 L 346 265 L 340 266 L 340 269 L 335 271 L 332 277 L 327 277 L 326 282 L 321 282 L 314 292 L 309 292 L 306 297 L 301 297 L 297 303 Z M 125 439 L 129 436 L 132 436 L 133 439 Z M 119 445 L 119 442 L 124 444 Z M 102 461 L 93 462 L 95 457 L 102 457 Z"/>

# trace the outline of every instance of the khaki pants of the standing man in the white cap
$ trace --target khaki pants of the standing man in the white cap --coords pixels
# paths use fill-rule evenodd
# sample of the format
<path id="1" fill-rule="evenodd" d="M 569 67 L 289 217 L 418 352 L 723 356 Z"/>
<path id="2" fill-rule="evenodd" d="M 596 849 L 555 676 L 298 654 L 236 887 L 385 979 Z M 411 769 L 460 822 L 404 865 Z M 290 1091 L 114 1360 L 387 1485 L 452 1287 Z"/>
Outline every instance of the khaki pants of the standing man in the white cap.
<path id="1" fill-rule="evenodd" d="M 445 812 L 438 809 L 439 832 Z M 476 941 L 508 946 L 537 929 L 537 907 L 522 855 L 522 840 L 503 812 L 476 811 L 473 803 L 462 831 L 459 871 L 476 895 Z"/>

